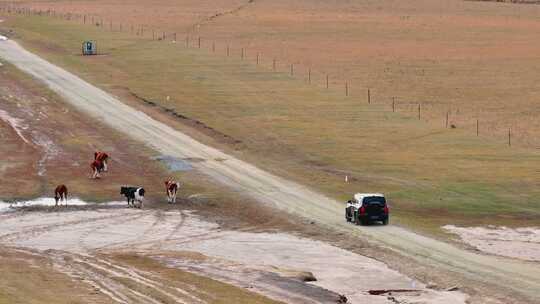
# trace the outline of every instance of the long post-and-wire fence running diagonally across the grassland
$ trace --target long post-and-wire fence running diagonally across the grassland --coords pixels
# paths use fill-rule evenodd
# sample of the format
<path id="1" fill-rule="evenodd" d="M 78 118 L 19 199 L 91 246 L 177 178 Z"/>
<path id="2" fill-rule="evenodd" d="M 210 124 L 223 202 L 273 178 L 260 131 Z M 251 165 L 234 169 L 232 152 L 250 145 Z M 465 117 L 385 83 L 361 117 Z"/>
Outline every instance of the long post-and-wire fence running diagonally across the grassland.
<path id="1" fill-rule="evenodd" d="M 474 115 L 463 113 L 463 109 L 452 105 L 441 105 L 429 102 L 411 101 L 408 98 L 401 96 L 377 96 L 377 91 L 374 88 L 359 88 L 355 87 L 351 80 L 334 79 L 333 75 L 327 72 L 318 71 L 313 66 L 304 66 L 298 61 L 289 61 L 276 56 L 265 58 L 259 50 L 250 52 L 246 47 L 239 46 L 234 49 L 230 42 L 219 44 L 215 40 L 204 40 L 202 36 L 194 35 L 192 31 L 187 34 L 167 32 L 145 24 L 130 24 L 122 22 L 114 22 L 106 20 L 99 14 L 95 13 L 73 13 L 73 12 L 58 12 L 54 9 L 34 9 L 29 7 L 17 6 L 14 3 L 0 4 L 0 12 L 8 15 L 20 16 L 41 16 L 50 17 L 66 21 L 73 21 L 82 25 L 93 26 L 103 31 L 118 32 L 134 35 L 141 40 L 146 41 L 163 41 L 172 42 L 178 45 L 183 45 L 185 48 L 205 49 L 205 51 L 216 54 L 218 56 L 232 57 L 238 56 L 240 60 L 252 61 L 256 66 L 271 70 L 273 72 L 286 73 L 291 78 L 303 80 L 307 85 L 312 85 L 320 89 L 333 90 L 341 92 L 343 97 L 356 98 L 361 101 L 365 99 L 368 105 L 384 106 L 385 110 L 392 113 L 400 113 L 401 115 L 409 115 L 420 121 L 434 123 L 440 121 L 442 128 L 448 129 L 472 129 L 471 134 L 477 137 L 491 136 L 496 134 L 501 138 L 504 136 L 505 145 L 511 147 L 515 145 L 515 139 L 522 139 L 528 143 L 525 146 L 534 145 L 531 141 L 523 140 L 523 134 L 527 132 L 522 128 L 517 128 L 513 124 L 509 126 L 497 126 L 490 123 L 489 120 L 482 121 L 479 111 Z M 180 43 L 178 38 L 185 35 L 184 42 Z M 514 128 L 513 128 L 514 127 Z M 520 138 L 521 135 L 521 138 Z M 501 140 L 502 141 L 502 140 Z"/>

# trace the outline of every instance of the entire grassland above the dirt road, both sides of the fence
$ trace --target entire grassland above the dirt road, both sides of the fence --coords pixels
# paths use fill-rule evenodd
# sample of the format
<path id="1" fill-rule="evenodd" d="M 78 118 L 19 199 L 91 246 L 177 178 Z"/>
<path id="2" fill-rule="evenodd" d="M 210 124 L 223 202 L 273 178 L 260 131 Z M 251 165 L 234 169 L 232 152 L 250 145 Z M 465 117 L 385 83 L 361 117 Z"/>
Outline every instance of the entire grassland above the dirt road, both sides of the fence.
<path id="1" fill-rule="evenodd" d="M 348 7 L 300 1 L 292 7 L 255 1 L 210 22 L 199 20 L 242 2 L 210 7 L 157 1 L 151 9 L 137 2 L 25 2 L 92 12 L 114 19 L 118 28 L 45 16 L 10 16 L 2 28 L 115 94 L 135 94 L 189 118 L 180 120 L 201 131 L 192 135 L 279 175 L 343 200 L 358 191 L 386 192 L 399 223 L 428 231 L 446 223 L 540 224 L 540 159 L 528 142 L 538 123 L 538 8 L 413 2 Z M 125 24 L 119 32 L 118 22 L 133 18 L 146 24 L 145 36 L 131 34 Z M 192 31 L 196 23 L 204 37 L 201 50 Z M 152 41 L 148 31 L 160 25 L 167 39 Z M 79 55 L 88 38 L 98 40 L 103 55 Z M 220 54 L 212 52 L 213 40 Z M 249 47 L 244 60 L 241 45 Z M 269 60 L 274 56 L 278 72 Z M 292 77 L 286 60 L 296 62 Z M 310 65 L 311 85 L 305 74 Z M 321 71 L 331 75 L 330 89 Z M 392 96 L 399 97 L 397 113 Z M 445 128 L 448 108 L 455 129 Z"/>

